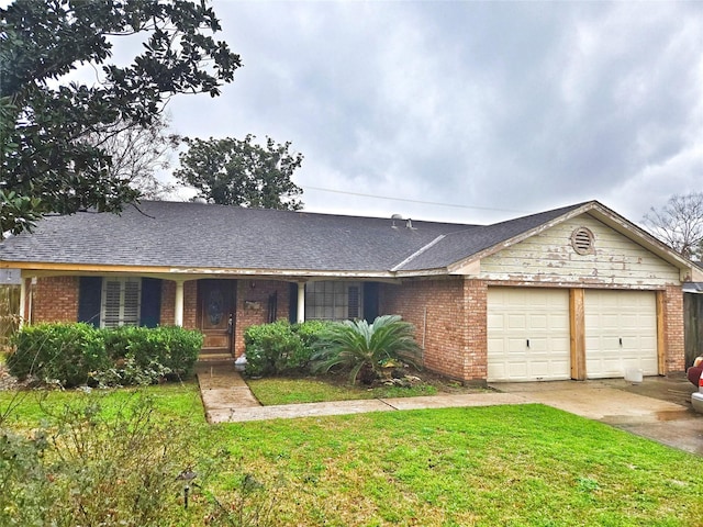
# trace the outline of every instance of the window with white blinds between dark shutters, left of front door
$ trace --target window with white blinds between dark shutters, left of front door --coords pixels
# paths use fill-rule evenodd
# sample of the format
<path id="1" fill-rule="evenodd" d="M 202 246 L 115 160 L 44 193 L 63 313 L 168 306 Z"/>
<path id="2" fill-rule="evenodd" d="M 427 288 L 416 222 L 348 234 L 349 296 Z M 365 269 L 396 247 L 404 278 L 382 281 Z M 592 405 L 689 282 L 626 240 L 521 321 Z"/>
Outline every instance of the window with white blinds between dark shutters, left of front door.
<path id="1" fill-rule="evenodd" d="M 140 324 L 142 280 L 138 278 L 105 278 L 102 281 L 100 319 L 103 327 Z"/>

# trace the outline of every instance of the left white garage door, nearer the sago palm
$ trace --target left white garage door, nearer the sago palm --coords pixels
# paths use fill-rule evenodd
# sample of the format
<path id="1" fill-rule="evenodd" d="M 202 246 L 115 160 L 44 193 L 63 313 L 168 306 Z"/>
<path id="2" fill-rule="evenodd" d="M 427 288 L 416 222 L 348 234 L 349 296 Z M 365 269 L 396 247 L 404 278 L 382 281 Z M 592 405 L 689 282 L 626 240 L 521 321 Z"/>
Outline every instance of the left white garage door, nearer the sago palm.
<path id="1" fill-rule="evenodd" d="M 569 293 L 489 288 L 488 380 L 570 379 Z"/>

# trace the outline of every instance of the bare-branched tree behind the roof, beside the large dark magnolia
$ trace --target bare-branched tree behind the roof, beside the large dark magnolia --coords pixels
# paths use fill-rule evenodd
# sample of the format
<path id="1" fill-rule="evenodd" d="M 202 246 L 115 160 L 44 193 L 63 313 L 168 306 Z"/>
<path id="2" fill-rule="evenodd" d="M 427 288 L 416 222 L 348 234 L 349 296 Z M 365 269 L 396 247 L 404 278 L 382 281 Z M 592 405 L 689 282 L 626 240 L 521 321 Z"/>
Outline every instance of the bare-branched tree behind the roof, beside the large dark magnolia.
<path id="1" fill-rule="evenodd" d="M 174 184 L 160 181 L 156 172 L 170 166 L 170 154 L 178 148 L 180 137 L 167 134 L 168 120 L 158 115 L 150 126 L 116 122 L 86 139 L 110 156 L 112 179 L 129 181 L 142 198 L 161 200 L 175 190 Z"/>

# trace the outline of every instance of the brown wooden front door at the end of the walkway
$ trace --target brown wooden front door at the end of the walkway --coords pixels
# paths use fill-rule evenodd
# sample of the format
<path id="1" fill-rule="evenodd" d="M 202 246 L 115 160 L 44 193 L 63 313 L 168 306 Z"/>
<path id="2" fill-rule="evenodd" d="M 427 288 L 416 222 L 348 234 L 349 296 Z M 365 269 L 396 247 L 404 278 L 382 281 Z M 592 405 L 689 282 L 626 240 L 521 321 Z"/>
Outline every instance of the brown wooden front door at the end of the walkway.
<path id="1" fill-rule="evenodd" d="M 198 281 L 198 327 L 204 335 L 201 359 L 233 355 L 235 280 Z"/>

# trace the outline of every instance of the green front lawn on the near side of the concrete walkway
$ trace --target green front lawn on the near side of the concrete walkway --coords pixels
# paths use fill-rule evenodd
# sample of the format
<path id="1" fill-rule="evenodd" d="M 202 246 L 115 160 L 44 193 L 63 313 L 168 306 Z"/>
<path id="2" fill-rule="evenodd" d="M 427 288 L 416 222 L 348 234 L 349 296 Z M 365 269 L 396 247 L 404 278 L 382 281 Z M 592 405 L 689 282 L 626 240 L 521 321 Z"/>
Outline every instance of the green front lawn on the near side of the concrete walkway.
<path id="1" fill-rule="evenodd" d="M 207 425 L 192 384 L 149 392 L 163 419 L 189 419 L 200 458 L 202 490 L 168 525 L 203 525 L 207 492 L 232 504 L 245 473 L 264 483 L 274 525 L 702 524 L 702 458 L 543 405 Z M 130 394 L 49 401 L 119 406 Z M 15 414 L 24 427 L 41 408 L 29 399 Z"/>

